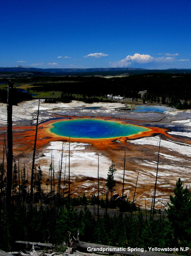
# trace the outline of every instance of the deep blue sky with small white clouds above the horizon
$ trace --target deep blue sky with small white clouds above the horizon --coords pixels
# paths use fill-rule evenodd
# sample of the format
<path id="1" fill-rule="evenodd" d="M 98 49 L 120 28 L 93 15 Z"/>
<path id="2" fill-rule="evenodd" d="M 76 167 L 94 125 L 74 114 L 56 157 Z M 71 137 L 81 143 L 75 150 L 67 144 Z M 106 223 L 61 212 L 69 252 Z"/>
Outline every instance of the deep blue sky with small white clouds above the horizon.
<path id="1" fill-rule="evenodd" d="M 191 68 L 190 0 L 1 0 L 0 67 Z"/>

